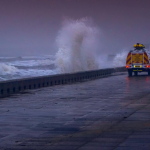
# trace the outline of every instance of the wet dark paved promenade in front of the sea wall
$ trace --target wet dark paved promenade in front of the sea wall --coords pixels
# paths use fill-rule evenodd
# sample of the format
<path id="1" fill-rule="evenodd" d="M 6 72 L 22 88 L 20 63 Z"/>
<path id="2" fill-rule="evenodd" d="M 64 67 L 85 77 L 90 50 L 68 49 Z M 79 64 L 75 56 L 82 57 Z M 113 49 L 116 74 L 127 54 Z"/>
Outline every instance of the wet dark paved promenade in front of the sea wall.
<path id="1" fill-rule="evenodd" d="M 0 150 L 150 150 L 150 77 L 118 73 L 0 99 Z"/>

